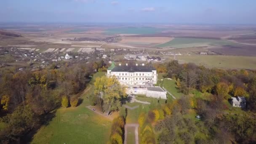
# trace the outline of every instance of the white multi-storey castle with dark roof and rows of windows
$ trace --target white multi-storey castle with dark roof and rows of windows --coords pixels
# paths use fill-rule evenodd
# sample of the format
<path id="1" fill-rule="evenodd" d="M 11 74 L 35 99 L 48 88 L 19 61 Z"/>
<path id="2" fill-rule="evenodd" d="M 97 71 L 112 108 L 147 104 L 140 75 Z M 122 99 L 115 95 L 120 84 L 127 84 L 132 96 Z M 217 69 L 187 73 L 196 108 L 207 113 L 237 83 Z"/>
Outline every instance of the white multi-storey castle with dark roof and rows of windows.
<path id="1" fill-rule="evenodd" d="M 121 65 L 115 66 L 112 62 L 107 69 L 107 77 L 115 76 L 121 84 L 145 85 L 157 83 L 157 70 L 152 66 L 141 65 Z"/>

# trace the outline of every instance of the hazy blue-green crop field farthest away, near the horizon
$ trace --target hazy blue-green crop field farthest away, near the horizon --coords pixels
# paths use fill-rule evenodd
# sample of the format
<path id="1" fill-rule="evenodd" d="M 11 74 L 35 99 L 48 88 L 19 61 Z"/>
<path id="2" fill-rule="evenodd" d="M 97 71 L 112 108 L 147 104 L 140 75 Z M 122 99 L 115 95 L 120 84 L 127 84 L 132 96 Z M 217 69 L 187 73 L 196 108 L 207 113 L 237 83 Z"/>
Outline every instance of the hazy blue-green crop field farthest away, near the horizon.
<path id="1" fill-rule="evenodd" d="M 155 34 L 161 32 L 163 29 L 154 28 L 154 27 L 121 27 L 107 29 L 106 34 L 115 35 L 115 34 Z"/>

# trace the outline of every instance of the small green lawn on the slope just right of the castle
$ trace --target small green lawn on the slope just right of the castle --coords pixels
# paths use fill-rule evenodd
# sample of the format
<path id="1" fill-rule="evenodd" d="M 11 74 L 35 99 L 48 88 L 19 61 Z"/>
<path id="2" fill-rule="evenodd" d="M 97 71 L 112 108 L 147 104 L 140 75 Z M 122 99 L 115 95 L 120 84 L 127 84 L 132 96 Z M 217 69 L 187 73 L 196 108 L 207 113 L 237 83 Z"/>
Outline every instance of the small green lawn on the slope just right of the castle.
<path id="1" fill-rule="evenodd" d="M 163 80 L 163 86 L 167 91 L 169 91 L 173 96 L 175 96 L 177 99 L 179 99 L 181 96 L 183 96 L 183 93 L 179 93 L 177 88 L 176 88 L 176 83 L 175 80 L 168 80 L 164 79 Z"/>

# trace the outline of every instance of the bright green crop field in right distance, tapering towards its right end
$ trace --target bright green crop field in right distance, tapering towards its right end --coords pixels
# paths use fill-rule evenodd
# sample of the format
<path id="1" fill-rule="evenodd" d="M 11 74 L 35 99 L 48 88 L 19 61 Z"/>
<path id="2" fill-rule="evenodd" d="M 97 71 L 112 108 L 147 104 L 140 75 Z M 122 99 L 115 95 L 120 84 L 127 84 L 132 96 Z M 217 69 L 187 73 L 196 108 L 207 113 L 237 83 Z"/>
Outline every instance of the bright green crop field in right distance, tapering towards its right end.
<path id="1" fill-rule="evenodd" d="M 174 38 L 173 40 L 155 45 L 154 47 L 173 47 L 173 48 L 189 48 L 189 47 L 201 47 L 211 45 L 237 45 L 236 43 L 229 42 L 227 40 L 213 40 L 213 39 L 201 39 L 201 38 Z"/>

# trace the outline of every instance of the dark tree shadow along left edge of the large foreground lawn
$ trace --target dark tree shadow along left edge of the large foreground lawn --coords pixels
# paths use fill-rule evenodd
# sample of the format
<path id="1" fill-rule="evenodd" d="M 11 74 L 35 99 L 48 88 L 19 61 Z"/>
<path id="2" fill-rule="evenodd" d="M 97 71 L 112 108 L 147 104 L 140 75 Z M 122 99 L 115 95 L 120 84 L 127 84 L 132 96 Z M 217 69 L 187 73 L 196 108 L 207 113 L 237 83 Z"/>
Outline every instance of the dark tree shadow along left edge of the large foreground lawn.
<path id="1" fill-rule="evenodd" d="M 53 118 L 56 117 L 56 110 L 49 112 L 45 115 L 40 116 L 40 121 L 37 123 L 35 128 L 33 128 L 31 131 L 27 132 L 24 134 L 24 136 L 21 137 L 20 143 L 21 144 L 29 144 L 33 140 L 34 135 L 37 133 L 37 131 L 42 127 L 42 126 L 47 126 L 53 120 Z"/>

